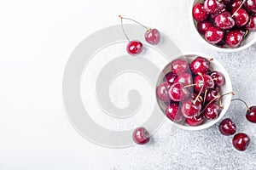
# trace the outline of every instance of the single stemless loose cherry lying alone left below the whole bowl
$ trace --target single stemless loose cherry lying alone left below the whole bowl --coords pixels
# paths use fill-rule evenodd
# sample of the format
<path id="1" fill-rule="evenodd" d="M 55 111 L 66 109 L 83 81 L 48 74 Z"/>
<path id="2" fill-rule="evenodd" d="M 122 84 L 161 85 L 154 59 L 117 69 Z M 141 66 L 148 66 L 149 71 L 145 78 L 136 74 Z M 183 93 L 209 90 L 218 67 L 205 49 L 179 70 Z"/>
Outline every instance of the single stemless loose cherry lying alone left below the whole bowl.
<path id="1" fill-rule="evenodd" d="M 148 143 L 149 137 L 149 133 L 145 127 L 137 127 L 132 133 L 132 139 L 137 144 Z"/>

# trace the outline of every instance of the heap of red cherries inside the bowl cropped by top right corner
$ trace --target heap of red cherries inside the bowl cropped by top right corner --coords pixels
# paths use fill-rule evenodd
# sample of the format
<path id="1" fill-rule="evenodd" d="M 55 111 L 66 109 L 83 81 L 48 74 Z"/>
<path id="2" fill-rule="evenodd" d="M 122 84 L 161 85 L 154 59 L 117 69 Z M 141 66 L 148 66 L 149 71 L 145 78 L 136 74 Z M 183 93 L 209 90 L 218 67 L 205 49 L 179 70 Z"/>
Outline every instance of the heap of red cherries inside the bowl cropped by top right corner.
<path id="1" fill-rule="evenodd" d="M 193 7 L 197 31 L 218 47 L 238 48 L 256 31 L 256 0 L 205 0 Z"/>

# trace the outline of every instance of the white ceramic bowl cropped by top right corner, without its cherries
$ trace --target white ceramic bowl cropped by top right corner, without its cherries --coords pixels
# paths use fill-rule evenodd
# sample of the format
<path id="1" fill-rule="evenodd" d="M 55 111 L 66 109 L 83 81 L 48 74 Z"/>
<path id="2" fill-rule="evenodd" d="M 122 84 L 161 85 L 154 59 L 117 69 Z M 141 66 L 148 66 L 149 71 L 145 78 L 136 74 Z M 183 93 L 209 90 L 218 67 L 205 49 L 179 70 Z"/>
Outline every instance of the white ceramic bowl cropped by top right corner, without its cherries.
<path id="1" fill-rule="evenodd" d="M 191 27 L 193 29 L 193 31 L 195 32 L 195 34 L 198 35 L 199 39 L 201 39 L 201 41 L 203 41 L 204 43 L 207 44 L 207 46 L 214 48 L 218 51 L 222 51 L 222 52 L 236 52 L 236 51 L 241 51 L 243 49 L 246 49 L 248 47 L 250 47 L 251 45 L 253 45 L 254 42 L 256 42 L 256 31 L 250 31 L 247 35 L 247 37 L 241 42 L 241 46 L 239 48 L 220 48 L 216 45 L 213 45 L 209 42 L 207 42 L 204 38 L 203 35 L 201 35 L 198 31 L 197 31 L 197 21 L 194 20 L 193 18 L 193 14 L 192 14 L 192 10 L 193 7 L 195 5 L 195 3 L 203 3 L 204 0 L 194 0 L 192 1 L 190 8 L 189 8 L 189 20 L 191 23 Z"/>

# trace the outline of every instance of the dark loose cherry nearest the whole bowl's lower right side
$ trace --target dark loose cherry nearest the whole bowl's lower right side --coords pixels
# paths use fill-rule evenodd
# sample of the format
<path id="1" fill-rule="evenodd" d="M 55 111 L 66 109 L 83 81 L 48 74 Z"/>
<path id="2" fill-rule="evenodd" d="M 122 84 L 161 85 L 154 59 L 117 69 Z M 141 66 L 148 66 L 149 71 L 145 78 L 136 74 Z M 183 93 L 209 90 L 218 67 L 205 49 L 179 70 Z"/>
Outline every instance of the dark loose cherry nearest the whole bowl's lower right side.
<path id="1" fill-rule="evenodd" d="M 224 119 L 218 125 L 219 132 L 229 136 L 236 133 L 236 124 L 230 118 Z"/>

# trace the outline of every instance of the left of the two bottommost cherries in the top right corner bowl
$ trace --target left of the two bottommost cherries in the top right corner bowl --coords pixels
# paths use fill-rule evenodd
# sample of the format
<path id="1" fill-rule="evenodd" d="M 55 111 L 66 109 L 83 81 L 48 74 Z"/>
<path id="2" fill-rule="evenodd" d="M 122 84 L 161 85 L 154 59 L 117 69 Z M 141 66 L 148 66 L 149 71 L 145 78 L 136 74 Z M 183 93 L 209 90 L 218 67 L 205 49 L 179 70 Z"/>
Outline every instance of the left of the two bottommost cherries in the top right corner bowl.
<path id="1" fill-rule="evenodd" d="M 224 31 L 214 26 L 208 28 L 205 33 L 205 38 L 207 42 L 212 44 L 216 44 L 220 42 L 223 39 L 223 37 L 224 37 Z"/>

